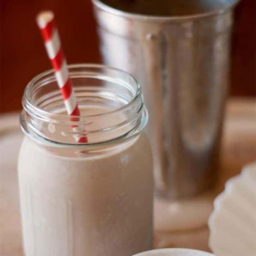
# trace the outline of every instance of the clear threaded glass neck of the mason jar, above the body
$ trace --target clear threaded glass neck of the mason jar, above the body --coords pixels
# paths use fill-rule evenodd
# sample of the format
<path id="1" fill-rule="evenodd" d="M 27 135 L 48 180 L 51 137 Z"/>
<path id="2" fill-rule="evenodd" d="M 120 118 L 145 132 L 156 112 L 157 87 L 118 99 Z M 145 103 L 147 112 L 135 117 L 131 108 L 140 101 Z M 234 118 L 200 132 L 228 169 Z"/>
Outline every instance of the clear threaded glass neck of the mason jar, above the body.
<path id="1" fill-rule="evenodd" d="M 83 109 L 86 104 L 90 106 L 90 103 L 93 103 L 93 100 L 97 99 L 97 97 L 102 97 L 102 99 L 114 97 L 117 99 L 117 102 L 121 100 L 120 102 L 122 102 L 122 104 L 113 105 L 114 108 L 106 109 L 106 111 L 98 113 L 84 114 L 82 111 L 80 116 L 72 115 L 72 118 L 70 118 L 70 115 L 68 115 L 66 111 L 52 111 L 52 109 L 49 108 L 60 107 L 60 109 L 56 110 L 63 110 L 59 102 L 62 102 L 63 105 L 65 105 L 65 102 L 62 99 L 61 90 L 57 88 L 57 85 L 53 92 L 49 92 L 45 95 L 42 94 L 44 86 L 49 85 L 50 87 L 48 87 L 48 89 L 51 89 L 53 88 L 52 85 L 56 83 L 54 71 L 47 70 L 35 76 L 27 84 L 24 91 L 22 100 L 24 110 L 20 117 L 20 123 L 22 130 L 28 137 L 32 138 L 33 136 L 31 137 L 31 134 L 34 134 L 34 137 L 39 135 L 43 139 L 61 145 L 97 145 L 104 142 L 115 141 L 116 139 L 128 140 L 134 138 L 144 130 L 148 122 L 148 112 L 144 105 L 141 86 L 131 74 L 117 68 L 91 63 L 72 64 L 68 65 L 68 68 L 70 78 L 74 82 L 74 88 L 78 88 L 75 91 L 81 99 L 81 92 L 83 92 L 81 88 L 83 88 L 83 85 L 80 88 L 77 86 L 80 84 L 79 79 L 94 79 L 96 81 L 92 81 L 93 84 L 90 84 L 90 80 L 85 83 L 85 87 L 87 87 L 89 93 L 88 97 L 91 98 L 86 99 L 88 102 L 78 100 L 78 103 L 81 104 L 81 109 Z M 103 87 L 98 87 L 97 85 L 101 85 L 101 83 L 99 84 L 97 81 L 103 81 Z M 112 85 L 112 87 L 108 87 L 109 85 Z M 119 87 L 115 87 L 115 85 L 119 85 Z M 94 90 L 92 88 L 96 89 Z M 99 88 L 103 88 L 102 94 L 97 94 L 100 90 Z M 129 90 L 129 97 L 122 98 L 128 91 L 123 91 L 124 94 L 122 95 L 121 91 L 118 91 L 118 88 L 126 88 Z M 95 92 L 96 98 L 93 96 Z M 112 95 L 109 96 L 108 93 L 112 93 Z M 97 100 L 95 102 L 97 102 Z M 113 117 L 118 115 L 121 115 L 122 118 L 113 119 Z M 76 118 L 77 120 L 75 120 Z M 95 129 L 94 124 L 98 122 L 97 120 L 102 120 L 102 123 Z M 106 120 L 112 121 L 106 122 Z M 49 125 L 51 125 L 51 127 Z M 77 126 L 86 126 L 86 128 L 83 131 L 73 129 L 73 127 Z M 105 140 L 100 139 L 102 138 L 100 134 L 103 132 L 106 135 Z M 116 135 L 115 132 L 117 132 Z M 66 141 L 62 141 L 59 138 L 56 140 L 55 134 L 62 135 L 63 137 L 61 138 L 66 137 Z M 67 139 L 71 137 L 77 138 L 77 136 L 89 136 L 91 141 L 79 144 L 67 141 Z"/>

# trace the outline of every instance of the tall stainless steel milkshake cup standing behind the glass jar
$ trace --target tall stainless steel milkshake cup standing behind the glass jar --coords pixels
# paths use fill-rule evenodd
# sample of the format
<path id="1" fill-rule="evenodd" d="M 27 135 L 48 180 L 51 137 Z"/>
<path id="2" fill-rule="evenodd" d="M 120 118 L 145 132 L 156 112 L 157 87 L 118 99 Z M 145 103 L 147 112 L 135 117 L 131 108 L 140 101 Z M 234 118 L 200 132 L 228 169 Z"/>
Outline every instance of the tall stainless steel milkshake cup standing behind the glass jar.
<path id="1" fill-rule="evenodd" d="M 157 194 L 179 199 L 209 189 L 217 177 L 238 1 L 92 1 L 103 62 L 142 85 Z"/>

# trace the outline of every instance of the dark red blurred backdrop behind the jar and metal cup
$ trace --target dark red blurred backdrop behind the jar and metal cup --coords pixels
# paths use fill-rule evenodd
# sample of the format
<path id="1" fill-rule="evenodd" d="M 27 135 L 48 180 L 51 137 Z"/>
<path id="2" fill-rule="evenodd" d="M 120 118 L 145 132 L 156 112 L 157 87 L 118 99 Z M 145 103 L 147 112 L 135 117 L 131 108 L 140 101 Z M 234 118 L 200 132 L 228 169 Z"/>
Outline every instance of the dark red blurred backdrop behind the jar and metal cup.
<path id="1" fill-rule="evenodd" d="M 242 0 L 235 11 L 232 39 L 230 95 L 256 95 L 255 0 Z M 100 62 L 96 22 L 90 0 L 1 1 L 1 100 L 0 112 L 22 108 L 26 84 L 51 68 L 35 16 L 55 12 L 68 63 Z"/>

